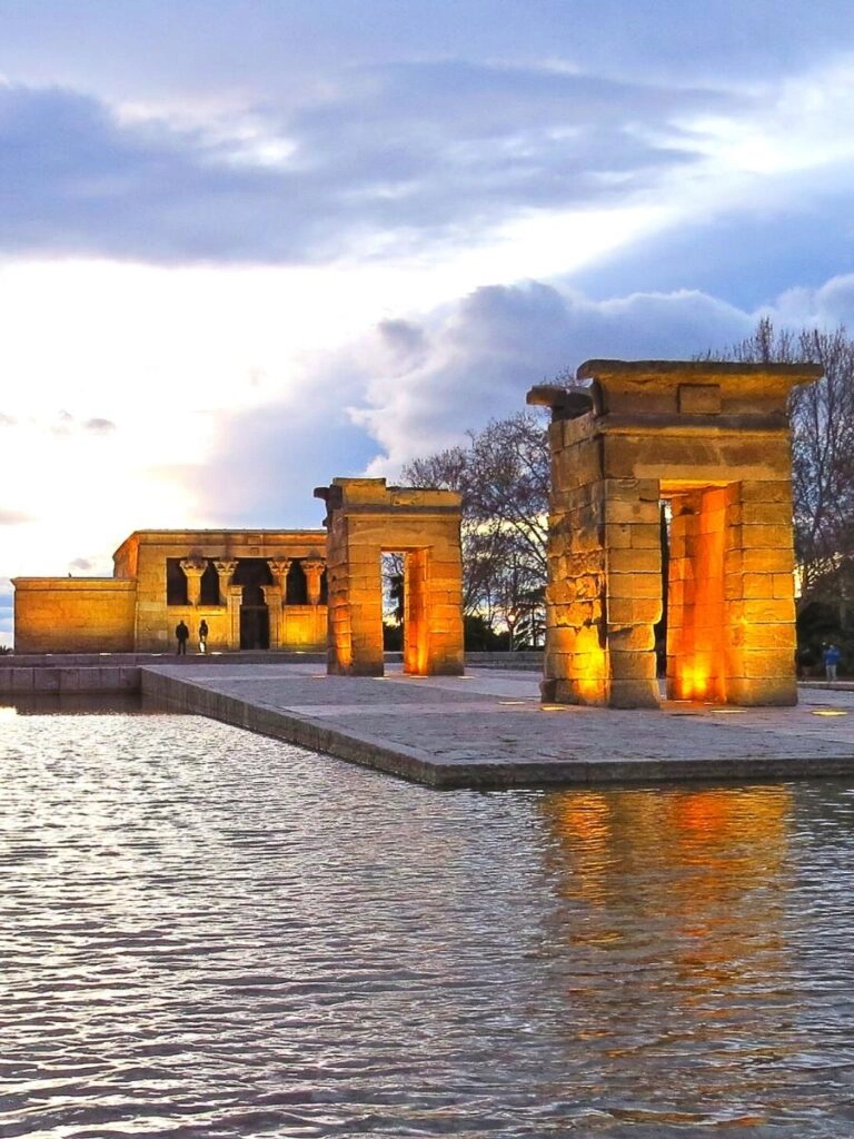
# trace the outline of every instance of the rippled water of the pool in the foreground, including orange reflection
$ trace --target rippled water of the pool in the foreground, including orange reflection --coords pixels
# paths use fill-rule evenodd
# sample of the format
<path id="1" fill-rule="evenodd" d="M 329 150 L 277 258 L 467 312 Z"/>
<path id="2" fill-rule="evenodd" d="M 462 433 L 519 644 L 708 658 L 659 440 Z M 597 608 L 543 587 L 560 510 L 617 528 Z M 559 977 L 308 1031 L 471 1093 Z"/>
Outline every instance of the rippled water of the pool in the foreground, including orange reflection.
<path id="1" fill-rule="evenodd" d="M 0 1134 L 854 1134 L 854 789 L 0 708 Z"/>

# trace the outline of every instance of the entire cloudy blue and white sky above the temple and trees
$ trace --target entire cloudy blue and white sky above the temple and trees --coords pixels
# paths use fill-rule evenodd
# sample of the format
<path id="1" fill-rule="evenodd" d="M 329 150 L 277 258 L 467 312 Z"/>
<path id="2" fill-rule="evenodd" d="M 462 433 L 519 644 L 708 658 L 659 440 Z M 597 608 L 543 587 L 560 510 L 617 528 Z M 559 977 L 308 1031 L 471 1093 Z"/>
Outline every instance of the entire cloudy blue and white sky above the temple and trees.
<path id="1" fill-rule="evenodd" d="M 591 357 L 854 323 L 851 0 L 0 0 L 0 642 Z"/>

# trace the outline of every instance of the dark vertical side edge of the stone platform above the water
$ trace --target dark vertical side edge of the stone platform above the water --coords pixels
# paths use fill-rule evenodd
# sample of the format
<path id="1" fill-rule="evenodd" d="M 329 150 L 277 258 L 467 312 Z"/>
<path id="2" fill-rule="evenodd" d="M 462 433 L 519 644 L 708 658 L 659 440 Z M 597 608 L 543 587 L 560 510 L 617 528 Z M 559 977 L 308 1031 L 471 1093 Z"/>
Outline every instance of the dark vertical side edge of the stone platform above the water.
<path id="1" fill-rule="evenodd" d="M 236 696 L 214 693 L 190 680 L 142 669 L 142 696 L 155 707 L 219 720 L 312 752 L 397 776 L 443 790 L 501 790 L 511 787 L 573 787 L 681 782 L 767 782 L 793 778 L 840 778 L 854 775 L 852 756 L 759 756 L 750 759 L 547 760 L 507 763 L 443 762 L 414 747 L 367 734 L 332 728 Z"/>

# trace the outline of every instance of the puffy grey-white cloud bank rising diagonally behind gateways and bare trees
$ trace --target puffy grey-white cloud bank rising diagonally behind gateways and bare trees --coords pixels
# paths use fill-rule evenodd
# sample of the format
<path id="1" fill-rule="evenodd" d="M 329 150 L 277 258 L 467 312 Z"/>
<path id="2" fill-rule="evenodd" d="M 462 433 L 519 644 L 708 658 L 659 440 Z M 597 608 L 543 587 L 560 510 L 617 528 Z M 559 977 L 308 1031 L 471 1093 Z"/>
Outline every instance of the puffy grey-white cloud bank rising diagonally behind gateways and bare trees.
<path id="1" fill-rule="evenodd" d="M 685 358 L 754 325 L 701 293 L 593 302 L 536 281 L 481 288 L 314 359 L 286 401 L 223 413 L 208 462 L 183 477 L 205 524 L 315 526 L 313 486 L 397 477 L 467 428 L 522 410 L 528 387 L 586 358 Z"/>

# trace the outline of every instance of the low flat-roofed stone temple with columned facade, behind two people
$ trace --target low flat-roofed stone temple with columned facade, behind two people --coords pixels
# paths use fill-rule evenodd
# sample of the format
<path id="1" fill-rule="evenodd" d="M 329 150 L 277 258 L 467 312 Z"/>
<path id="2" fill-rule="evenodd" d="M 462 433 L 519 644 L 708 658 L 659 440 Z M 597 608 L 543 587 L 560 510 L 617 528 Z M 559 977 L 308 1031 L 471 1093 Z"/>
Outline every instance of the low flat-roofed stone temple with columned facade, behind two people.
<path id="1" fill-rule="evenodd" d="M 16 653 L 171 650 L 204 620 L 211 652 L 326 648 L 322 530 L 143 530 L 113 577 L 17 577 Z"/>

